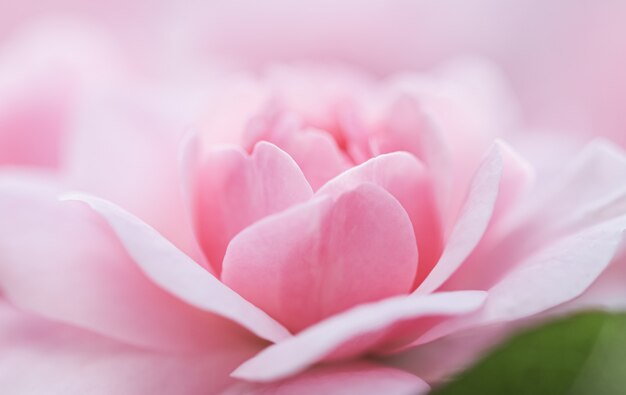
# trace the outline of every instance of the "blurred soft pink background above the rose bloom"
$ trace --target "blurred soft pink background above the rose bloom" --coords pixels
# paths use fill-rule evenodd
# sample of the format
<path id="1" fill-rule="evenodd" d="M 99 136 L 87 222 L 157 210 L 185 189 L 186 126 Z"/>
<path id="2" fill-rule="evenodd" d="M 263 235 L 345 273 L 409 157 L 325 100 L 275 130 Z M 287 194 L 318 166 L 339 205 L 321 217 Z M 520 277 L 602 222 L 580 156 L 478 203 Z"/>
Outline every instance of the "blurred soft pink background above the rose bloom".
<path id="1" fill-rule="evenodd" d="M 626 145 L 624 21 L 621 0 L 1 0 L 0 62 L 46 24 L 104 37 L 156 78 L 192 62 L 320 60 L 386 75 L 478 55 L 504 71 L 527 126 Z"/>

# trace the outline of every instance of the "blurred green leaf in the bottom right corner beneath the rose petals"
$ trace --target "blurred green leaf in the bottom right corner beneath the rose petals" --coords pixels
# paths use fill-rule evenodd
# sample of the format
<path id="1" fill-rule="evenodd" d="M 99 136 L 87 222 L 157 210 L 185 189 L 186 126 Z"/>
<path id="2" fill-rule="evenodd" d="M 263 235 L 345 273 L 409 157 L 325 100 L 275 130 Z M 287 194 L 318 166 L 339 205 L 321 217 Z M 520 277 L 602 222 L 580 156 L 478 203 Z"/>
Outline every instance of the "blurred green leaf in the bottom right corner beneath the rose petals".
<path id="1" fill-rule="evenodd" d="M 626 394 L 626 314 L 586 312 L 524 331 L 431 394 Z"/>

